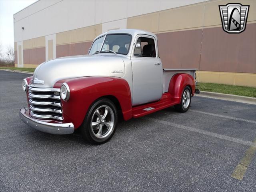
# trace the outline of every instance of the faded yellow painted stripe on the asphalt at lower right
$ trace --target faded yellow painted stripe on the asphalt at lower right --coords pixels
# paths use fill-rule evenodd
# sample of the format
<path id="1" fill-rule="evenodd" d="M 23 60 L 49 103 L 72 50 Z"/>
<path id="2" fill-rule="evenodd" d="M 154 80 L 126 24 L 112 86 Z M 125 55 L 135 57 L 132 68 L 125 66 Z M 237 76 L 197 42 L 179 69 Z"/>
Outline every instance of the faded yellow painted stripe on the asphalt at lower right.
<path id="1" fill-rule="evenodd" d="M 243 180 L 244 174 L 246 173 L 247 168 L 249 167 L 252 158 L 256 152 L 256 138 L 253 141 L 253 144 L 246 150 L 244 157 L 240 161 L 240 163 L 236 166 L 234 172 L 231 174 L 231 177 Z"/>

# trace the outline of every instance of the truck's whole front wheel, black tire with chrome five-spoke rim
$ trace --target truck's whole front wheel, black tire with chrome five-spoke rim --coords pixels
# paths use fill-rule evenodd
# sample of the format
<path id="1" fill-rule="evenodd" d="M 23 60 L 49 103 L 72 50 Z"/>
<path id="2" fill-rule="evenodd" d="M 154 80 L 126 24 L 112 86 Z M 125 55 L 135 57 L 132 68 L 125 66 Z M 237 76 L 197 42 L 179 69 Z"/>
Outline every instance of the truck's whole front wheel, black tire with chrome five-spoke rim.
<path id="1" fill-rule="evenodd" d="M 106 117 L 104 118 L 106 109 L 108 110 L 108 112 Z M 94 122 L 94 125 L 92 122 Z M 87 142 L 99 145 L 107 142 L 112 138 L 116 131 L 117 122 L 118 113 L 116 106 L 111 100 L 107 98 L 101 98 L 93 102 L 89 107 L 88 112 L 84 118 L 84 122 L 80 127 L 80 131 Z M 101 132 L 100 126 L 102 127 Z"/>

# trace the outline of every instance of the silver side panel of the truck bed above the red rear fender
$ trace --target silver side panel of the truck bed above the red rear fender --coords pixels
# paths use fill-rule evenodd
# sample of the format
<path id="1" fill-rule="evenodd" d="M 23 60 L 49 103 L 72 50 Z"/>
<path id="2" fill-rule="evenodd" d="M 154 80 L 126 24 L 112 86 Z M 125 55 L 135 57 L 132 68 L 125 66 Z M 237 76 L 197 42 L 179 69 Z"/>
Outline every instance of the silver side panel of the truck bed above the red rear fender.
<path id="1" fill-rule="evenodd" d="M 172 78 L 177 73 L 190 74 L 194 79 L 196 78 L 197 69 L 163 69 L 164 78 L 164 93 L 168 92 L 169 83 Z"/>

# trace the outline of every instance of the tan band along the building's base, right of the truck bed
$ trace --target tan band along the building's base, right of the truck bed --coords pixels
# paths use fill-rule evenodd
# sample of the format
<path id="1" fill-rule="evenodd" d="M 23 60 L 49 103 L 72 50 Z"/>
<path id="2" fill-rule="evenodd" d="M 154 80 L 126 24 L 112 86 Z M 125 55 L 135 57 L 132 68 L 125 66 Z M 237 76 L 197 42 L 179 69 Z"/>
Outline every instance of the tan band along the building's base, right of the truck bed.
<path id="1" fill-rule="evenodd" d="M 255 73 L 197 71 L 196 76 L 198 82 L 256 87 Z"/>

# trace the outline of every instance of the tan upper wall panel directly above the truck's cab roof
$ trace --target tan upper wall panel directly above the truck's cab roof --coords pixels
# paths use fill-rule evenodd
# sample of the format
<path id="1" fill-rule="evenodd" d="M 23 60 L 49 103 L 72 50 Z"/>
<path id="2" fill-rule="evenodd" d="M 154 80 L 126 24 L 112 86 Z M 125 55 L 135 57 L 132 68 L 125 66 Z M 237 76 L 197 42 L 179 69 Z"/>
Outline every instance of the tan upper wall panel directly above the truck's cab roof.
<path id="1" fill-rule="evenodd" d="M 128 18 L 127 28 L 158 32 L 158 16 L 158 13 L 152 13 Z"/>

